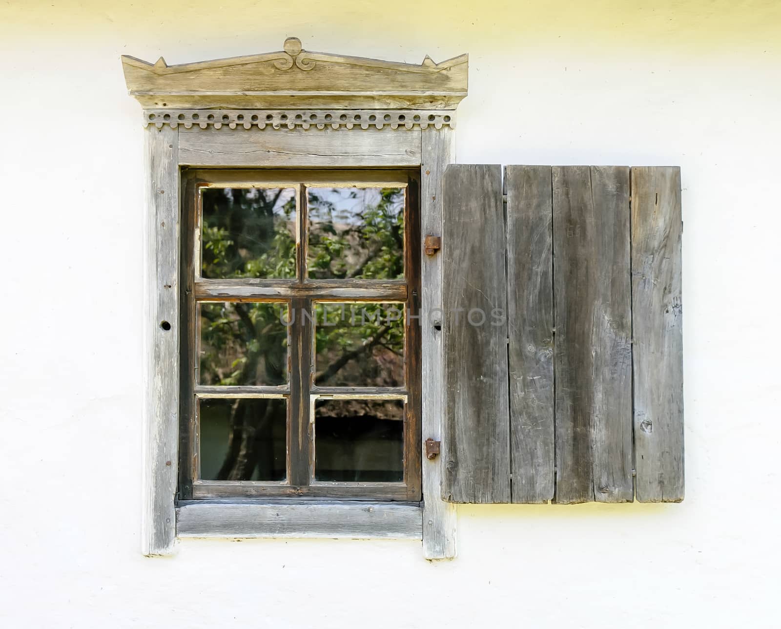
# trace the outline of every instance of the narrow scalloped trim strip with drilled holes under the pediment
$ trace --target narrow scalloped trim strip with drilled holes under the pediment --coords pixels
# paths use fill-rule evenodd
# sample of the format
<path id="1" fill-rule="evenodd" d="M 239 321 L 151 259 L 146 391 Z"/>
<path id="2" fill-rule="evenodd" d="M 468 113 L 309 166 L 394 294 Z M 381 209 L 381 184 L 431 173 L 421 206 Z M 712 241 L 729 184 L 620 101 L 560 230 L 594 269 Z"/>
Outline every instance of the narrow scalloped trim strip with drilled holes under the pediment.
<path id="1" fill-rule="evenodd" d="M 291 61 L 292 63 L 292 61 Z M 144 127 L 176 129 L 426 129 L 455 127 L 455 111 L 408 109 L 144 109 Z"/>

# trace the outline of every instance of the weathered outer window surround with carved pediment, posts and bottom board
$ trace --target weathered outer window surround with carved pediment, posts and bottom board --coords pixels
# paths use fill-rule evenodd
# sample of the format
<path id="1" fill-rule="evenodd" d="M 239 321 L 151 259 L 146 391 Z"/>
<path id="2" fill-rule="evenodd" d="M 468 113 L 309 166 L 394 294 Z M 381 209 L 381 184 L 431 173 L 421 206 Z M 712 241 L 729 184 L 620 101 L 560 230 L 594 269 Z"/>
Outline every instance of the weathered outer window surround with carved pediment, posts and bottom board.
<path id="1" fill-rule="evenodd" d="M 124 56 L 123 69 L 146 127 L 144 555 L 169 555 L 177 538 L 344 537 L 422 539 L 426 559 L 454 557 L 455 506 L 440 489 L 444 462 L 427 458 L 423 443 L 419 501 L 179 499 L 180 294 L 187 291 L 181 184 L 191 167 L 412 168 L 419 170 L 420 236 L 439 236 L 467 56 L 394 63 L 308 52 L 288 38 L 284 51 L 182 66 Z M 440 441 L 442 261 L 420 258 L 420 435 Z"/>

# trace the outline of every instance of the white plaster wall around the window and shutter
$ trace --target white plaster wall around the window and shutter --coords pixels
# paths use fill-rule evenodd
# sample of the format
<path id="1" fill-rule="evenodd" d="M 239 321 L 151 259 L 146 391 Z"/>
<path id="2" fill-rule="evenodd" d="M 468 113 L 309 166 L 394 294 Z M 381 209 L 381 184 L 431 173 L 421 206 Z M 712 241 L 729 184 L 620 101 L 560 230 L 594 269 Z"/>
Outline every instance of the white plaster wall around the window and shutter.
<path id="1" fill-rule="evenodd" d="M 120 54 L 470 53 L 465 163 L 683 169 L 686 500 L 139 552 L 142 132 Z M 3 627 L 778 626 L 778 2 L 0 4 Z"/>

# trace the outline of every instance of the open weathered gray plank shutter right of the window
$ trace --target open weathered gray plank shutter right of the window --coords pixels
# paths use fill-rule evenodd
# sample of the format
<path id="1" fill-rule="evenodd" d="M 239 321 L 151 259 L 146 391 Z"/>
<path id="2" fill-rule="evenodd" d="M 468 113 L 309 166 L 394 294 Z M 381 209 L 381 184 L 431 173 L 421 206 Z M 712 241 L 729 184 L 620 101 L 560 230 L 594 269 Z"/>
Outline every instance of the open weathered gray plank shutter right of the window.
<path id="1" fill-rule="evenodd" d="M 444 310 L 508 321 L 446 318 L 444 499 L 679 502 L 679 169 L 508 166 L 505 220 L 499 185 L 445 175 Z"/>

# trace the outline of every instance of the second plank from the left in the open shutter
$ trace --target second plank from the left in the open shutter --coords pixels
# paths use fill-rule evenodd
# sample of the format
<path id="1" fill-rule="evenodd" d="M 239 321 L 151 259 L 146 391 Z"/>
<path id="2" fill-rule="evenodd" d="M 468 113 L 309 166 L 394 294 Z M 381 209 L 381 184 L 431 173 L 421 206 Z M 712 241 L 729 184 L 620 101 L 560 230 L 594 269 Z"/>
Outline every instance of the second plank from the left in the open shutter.
<path id="1" fill-rule="evenodd" d="M 507 166 L 512 502 L 554 493 L 551 166 Z"/>

